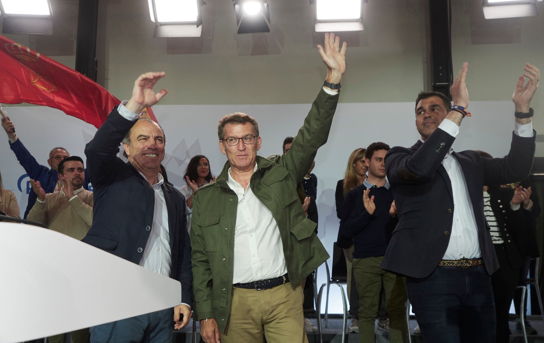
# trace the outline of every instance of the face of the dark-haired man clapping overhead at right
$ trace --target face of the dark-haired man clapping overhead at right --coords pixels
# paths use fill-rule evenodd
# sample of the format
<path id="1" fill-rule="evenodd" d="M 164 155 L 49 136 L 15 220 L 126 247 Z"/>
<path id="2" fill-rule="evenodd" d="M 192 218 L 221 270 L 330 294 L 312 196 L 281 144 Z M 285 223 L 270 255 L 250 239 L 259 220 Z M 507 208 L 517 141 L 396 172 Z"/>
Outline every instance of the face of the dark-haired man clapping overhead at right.
<path id="1" fill-rule="evenodd" d="M 448 110 L 440 97 L 421 99 L 416 106 L 416 127 L 423 140 L 429 138 L 446 118 Z"/>

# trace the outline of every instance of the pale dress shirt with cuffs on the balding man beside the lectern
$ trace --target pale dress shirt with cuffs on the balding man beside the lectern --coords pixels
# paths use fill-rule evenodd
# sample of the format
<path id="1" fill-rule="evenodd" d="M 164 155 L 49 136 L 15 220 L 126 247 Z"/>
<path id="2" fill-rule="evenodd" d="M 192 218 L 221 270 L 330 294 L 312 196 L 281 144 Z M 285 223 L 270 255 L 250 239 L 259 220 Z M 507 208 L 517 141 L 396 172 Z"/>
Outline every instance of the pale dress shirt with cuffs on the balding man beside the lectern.
<path id="1" fill-rule="evenodd" d="M 127 102 L 123 101 L 118 111 L 121 116 L 128 120 L 137 120 L 139 114 L 133 113 L 131 110 L 125 107 Z M 144 174 L 140 172 L 141 176 Z M 152 270 L 156 273 L 164 276 L 171 277 L 172 272 L 172 252 L 170 251 L 170 230 L 168 227 L 168 208 L 166 208 L 166 201 L 164 199 L 164 193 L 162 184 L 164 183 L 163 176 L 158 173 L 158 182 L 151 187 L 154 191 L 155 205 L 153 208 L 153 221 L 151 230 L 149 233 L 149 239 L 145 245 L 144 255 L 140 260 L 140 266 L 145 269 Z M 189 304 L 181 303 L 187 305 Z"/>

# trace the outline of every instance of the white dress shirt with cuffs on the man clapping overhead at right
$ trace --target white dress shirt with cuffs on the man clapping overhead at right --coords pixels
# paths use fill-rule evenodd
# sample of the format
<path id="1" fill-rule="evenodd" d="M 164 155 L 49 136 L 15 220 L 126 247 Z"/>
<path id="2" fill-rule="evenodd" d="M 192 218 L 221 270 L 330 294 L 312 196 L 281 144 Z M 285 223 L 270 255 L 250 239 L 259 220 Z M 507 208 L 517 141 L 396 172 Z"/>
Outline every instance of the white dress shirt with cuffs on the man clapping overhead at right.
<path id="1" fill-rule="evenodd" d="M 438 127 L 453 137 L 459 134 L 459 126 L 448 119 L 444 119 Z M 521 137 L 532 137 L 533 124 L 529 122 L 528 124 L 521 125 L 516 122 L 514 134 Z M 442 161 L 442 165 L 452 182 L 454 205 L 452 232 L 450 233 L 448 248 L 443 259 L 479 258 L 481 257 L 481 253 L 474 208 L 468 194 L 465 174 L 463 174 L 459 161 L 452 153 L 453 147 L 450 148 Z"/>

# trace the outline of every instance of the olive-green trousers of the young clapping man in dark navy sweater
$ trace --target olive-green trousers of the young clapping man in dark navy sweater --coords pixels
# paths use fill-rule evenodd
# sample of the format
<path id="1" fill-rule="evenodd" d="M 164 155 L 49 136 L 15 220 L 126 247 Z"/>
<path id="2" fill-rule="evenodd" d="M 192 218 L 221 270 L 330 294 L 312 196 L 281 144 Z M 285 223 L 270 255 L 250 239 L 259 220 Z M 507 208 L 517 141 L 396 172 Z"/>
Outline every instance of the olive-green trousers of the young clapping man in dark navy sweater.
<path id="1" fill-rule="evenodd" d="M 353 277 L 359 294 L 359 342 L 374 343 L 374 325 L 378 314 L 382 283 L 385 290 L 385 307 L 389 316 L 391 343 L 405 342 L 406 280 L 380 269 L 384 257 L 356 258 L 353 260 Z"/>

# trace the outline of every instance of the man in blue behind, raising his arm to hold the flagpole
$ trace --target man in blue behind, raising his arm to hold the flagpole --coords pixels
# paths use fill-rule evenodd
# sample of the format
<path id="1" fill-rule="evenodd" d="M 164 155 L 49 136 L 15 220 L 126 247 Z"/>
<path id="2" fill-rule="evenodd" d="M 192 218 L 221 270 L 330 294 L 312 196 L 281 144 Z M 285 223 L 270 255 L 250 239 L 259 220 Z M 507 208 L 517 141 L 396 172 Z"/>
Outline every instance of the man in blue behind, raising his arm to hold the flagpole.
<path id="1" fill-rule="evenodd" d="M 41 165 L 36 161 L 32 154 L 24 147 L 21 140 L 15 134 L 15 124 L 9 119 L 9 117 L 2 117 L 2 127 L 5 133 L 8 134 L 9 147 L 15 153 L 17 160 L 27 172 L 30 179 L 34 179 L 40 182 L 41 188 L 47 193 L 54 193 L 60 191 L 62 188 L 61 182 L 58 177 L 57 167 L 61 160 L 70 157 L 70 153 L 63 147 L 55 147 L 49 152 L 49 158 L 47 164 L 49 167 Z M 89 177 L 87 176 L 87 170 L 85 169 L 85 180 L 83 182 L 83 188 L 89 190 Z M 23 218 L 26 219 L 30 209 L 36 203 L 36 194 L 29 188 L 28 192 L 28 204 L 27 209 L 24 210 Z"/>

